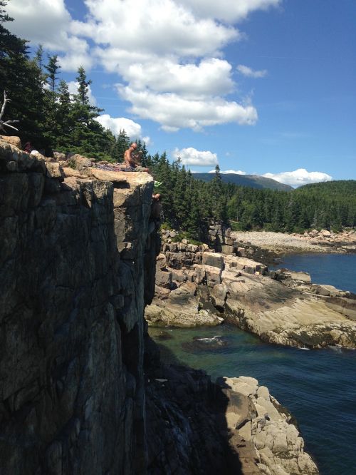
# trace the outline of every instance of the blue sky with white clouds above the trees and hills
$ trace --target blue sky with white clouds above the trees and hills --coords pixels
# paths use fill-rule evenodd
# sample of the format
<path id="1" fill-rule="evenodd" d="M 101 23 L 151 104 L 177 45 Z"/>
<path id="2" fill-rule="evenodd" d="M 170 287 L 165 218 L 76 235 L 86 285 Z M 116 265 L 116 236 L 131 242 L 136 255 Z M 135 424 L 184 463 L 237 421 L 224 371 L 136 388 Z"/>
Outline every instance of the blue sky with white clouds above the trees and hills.
<path id="1" fill-rule="evenodd" d="M 355 0 L 10 0 L 98 120 L 192 171 L 356 179 Z"/>

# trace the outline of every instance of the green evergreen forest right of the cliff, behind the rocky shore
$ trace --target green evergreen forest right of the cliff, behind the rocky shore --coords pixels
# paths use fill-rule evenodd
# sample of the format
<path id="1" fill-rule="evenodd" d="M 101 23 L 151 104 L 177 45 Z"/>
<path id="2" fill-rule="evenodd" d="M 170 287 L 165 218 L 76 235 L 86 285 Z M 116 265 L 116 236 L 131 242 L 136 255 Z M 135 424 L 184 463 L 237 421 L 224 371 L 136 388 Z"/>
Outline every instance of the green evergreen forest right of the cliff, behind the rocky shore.
<path id="1" fill-rule="evenodd" d="M 292 191 L 256 189 L 224 183 L 219 165 L 213 180 L 169 163 L 167 155 L 147 155 L 145 163 L 164 183 L 162 202 L 169 225 L 204 240 L 211 220 L 234 230 L 302 233 L 310 228 L 340 231 L 356 225 L 356 180 L 304 185 Z"/>

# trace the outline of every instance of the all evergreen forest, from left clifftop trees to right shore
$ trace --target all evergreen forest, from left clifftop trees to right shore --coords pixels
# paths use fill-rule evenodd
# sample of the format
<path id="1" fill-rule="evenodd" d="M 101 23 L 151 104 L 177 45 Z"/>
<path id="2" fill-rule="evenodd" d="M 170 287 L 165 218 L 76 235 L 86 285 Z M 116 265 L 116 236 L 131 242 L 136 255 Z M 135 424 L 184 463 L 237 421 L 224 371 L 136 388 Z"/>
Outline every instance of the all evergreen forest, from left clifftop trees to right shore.
<path id="1" fill-rule="evenodd" d="M 70 94 L 66 81 L 59 80 L 57 56 L 48 56 L 41 46 L 34 58 L 28 56 L 26 40 L 5 28 L 11 21 L 0 0 L 0 94 L 7 91 L 3 121 L 19 119 L 22 143 L 51 154 L 52 150 L 74 152 L 94 159 L 121 161 L 130 145 L 125 131 L 113 136 L 95 118 L 100 109 L 89 102 L 90 79 L 78 65 L 78 90 Z M 16 125 L 17 126 L 17 125 Z M 3 133 L 3 132 L 2 132 Z M 167 225 L 204 240 L 211 220 L 231 223 L 242 230 L 300 231 L 305 228 L 334 228 L 356 224 L 356 182 L 340 181 L 306 185 L 292 191 L 256 189 L 224 183 L 216 167 L 211 180 L 194 179 L 166 153 L 150 155 L 140 143 L 142 165 L 148 166 L 162 194 Z"/>

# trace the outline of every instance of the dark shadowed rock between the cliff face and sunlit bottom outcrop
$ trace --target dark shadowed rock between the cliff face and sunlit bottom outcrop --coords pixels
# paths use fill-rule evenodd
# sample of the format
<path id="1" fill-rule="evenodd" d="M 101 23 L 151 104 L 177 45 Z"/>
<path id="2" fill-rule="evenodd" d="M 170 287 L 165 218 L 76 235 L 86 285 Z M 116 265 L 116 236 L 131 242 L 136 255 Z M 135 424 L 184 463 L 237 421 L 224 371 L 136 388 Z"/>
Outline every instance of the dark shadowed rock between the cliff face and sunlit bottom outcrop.
<path id="1" fill-rule="evenodd" d="M 174 361 L 174 356 L 168 359 Z M 148 336 L 145 374 L 147 474 L 242 474 L 241 441 L 226 424 L 225 389 L 204 371 L 162 364 L 157 344 Z"/>

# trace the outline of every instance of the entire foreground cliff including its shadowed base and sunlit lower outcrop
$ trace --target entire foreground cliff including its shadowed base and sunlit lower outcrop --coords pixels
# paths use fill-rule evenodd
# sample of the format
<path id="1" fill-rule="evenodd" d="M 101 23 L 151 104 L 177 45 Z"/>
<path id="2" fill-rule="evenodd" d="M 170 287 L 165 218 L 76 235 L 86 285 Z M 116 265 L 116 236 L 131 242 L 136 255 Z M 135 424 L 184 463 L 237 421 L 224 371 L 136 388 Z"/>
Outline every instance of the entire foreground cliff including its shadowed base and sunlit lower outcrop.
<path id="1" fill-rule="evenodd" d="M 0 140 L 0 473 L 281 474 L 293 459 L 318 474 L 282 413 L 259 421 L 256 380 L 160 361 L 152 177 L 16 145 Z"/>

